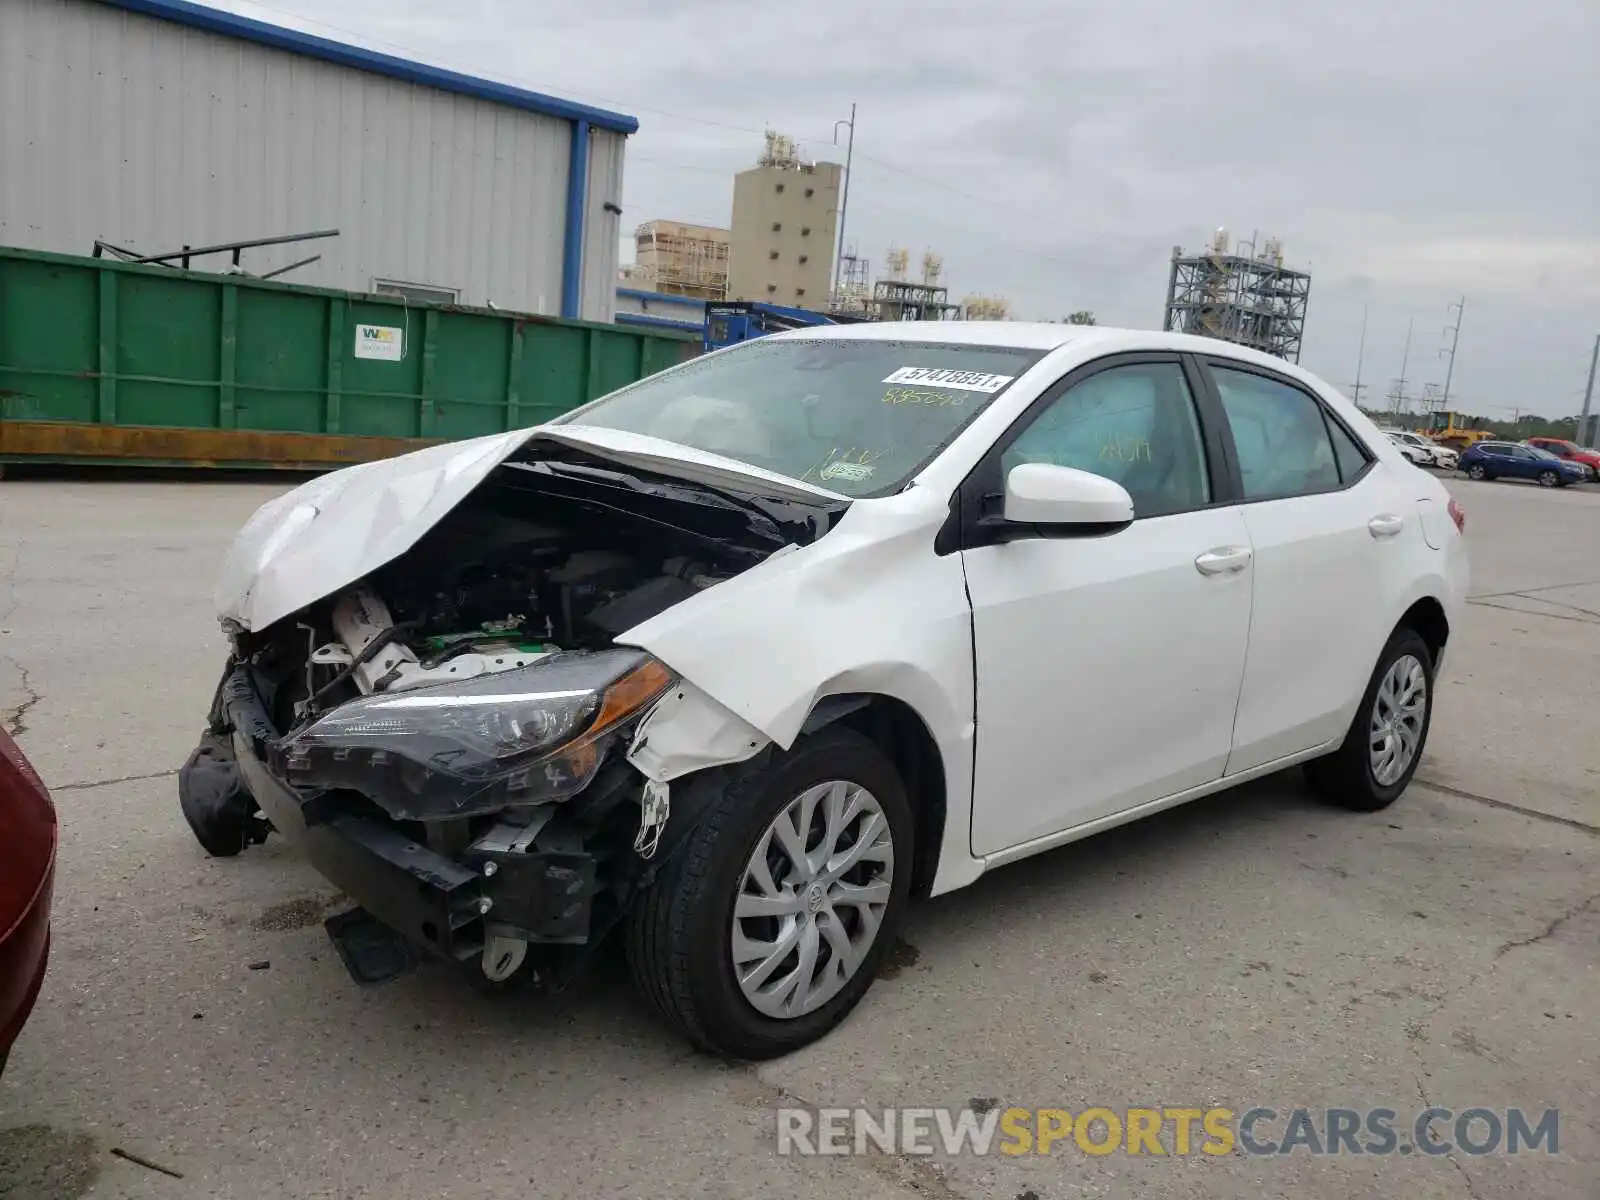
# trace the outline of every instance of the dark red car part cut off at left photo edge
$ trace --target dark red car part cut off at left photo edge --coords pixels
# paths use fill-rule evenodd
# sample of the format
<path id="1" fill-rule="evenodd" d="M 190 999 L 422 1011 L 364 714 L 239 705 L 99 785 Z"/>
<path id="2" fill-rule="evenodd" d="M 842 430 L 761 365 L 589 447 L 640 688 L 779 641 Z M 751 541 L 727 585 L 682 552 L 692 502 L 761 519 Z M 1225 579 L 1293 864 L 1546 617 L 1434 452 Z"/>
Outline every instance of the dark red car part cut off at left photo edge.
<path id="1" fill-rule="evenodd" d="M 56 808 L 38 771 L 0 730 L 0 1070 L 45 981 L 54 878 Z"/>

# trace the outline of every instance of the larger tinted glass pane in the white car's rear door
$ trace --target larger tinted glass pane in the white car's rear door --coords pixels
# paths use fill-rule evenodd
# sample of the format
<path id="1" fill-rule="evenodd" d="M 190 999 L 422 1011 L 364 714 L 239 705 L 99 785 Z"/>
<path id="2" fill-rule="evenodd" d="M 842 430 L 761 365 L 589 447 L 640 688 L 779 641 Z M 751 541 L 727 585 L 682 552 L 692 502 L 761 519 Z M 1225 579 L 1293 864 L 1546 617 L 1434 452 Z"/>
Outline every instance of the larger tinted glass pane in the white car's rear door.
<path id="1" fill-rule="evenodd" d="M 1339 486 L 1322 405 L 1298 387 L 1259 374 L 1213 363 L 1211 376 L 1234 430 L 1245 499 L 1307 496 Z"/>

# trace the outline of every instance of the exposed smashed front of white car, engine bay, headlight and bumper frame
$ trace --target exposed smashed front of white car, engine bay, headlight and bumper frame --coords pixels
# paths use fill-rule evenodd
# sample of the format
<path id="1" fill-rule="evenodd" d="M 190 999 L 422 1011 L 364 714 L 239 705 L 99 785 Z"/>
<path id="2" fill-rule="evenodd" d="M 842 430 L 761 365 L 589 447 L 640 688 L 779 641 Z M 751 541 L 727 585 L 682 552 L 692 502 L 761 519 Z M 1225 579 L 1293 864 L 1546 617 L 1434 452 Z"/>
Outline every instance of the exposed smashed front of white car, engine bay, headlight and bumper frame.
<path id="1" fill-rule="evenodd" d="M 842 512 L 533 443 L 394 562 L 232 630 L 189 824 L 211 853 L 294 840 L 363 906 L 330 922 L 363 981 L 390 933 L 491 981 L 592 946 L 669 808 L 626 752 L 675 678 L 616 638 Z"/>

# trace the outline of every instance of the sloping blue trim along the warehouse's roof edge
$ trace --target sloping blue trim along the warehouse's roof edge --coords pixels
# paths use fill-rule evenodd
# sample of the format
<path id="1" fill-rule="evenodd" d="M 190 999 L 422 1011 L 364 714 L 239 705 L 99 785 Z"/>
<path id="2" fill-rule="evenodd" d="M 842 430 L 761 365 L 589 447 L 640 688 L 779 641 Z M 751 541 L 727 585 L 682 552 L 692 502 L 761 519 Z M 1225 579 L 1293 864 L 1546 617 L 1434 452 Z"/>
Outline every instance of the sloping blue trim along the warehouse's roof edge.
<path id="1" fill-rule="evenodd" d="M 627 117 L 621 112 L 594 109 L 587 104 L 546 96 L 541 91 L 526 91 L 523 88 L 514 88 L 509 83 L 494 83 L 493 80 L 462 75 L 454 70 L 445 70 L 443 67 L 430 67 L 426 62 L 413 62 L 392 54 L 379 54 L 374 50 L 362 50 L 360 46 L 350 46 L 344 42 L 331 42 L 312 34 L 301 34 L 294 29 L 269 26 L 264 21 L 251 21 L 246 16 L 235 16 L 234 13 L 206 8 L 205 5 L 194 5 L 187 0 L 99 2 L 114 8 L 123 8 L 130 13 L 142 13 L 165 21 L 176 21 L 178 24 L 189 26 L 192 29 L 205 29 L 211 34 L 238 37 L 246 42 L 258 42 L 264 46 L 288 50 L 294 54 L 318 58 L 325 62 L 338 62 L 339 66 L 355 67 L 357 70 L 371 70 L 378 75 L 405 80 L 406 83 L 421 83 L 427 88 L 440 88 L 442 91 L 475 96 L 496 104 L 509 104 L 514 109 L 525 109 L 526 112 L 538 112 L 546 117 L 586 122 L 587 125 L 594 125 L 597 130 L 638 133 L 638 118 Z"/>

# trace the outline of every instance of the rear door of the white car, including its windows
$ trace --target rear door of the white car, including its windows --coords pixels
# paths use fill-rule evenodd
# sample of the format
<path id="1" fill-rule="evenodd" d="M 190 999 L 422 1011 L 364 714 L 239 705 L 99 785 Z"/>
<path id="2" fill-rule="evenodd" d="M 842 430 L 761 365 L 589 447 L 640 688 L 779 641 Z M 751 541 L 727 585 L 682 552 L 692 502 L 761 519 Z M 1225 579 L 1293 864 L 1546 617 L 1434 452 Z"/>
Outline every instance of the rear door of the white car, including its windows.
<path id="1" fill-rule="evenodd" d="M 1398 611 L 1405 546 L 1422 531 L 1403 477 L 1312 390 L 1222 357 L 1205 358 L 1205 378 L 1254 552 L 1237 774 L 1344 733 Z"/>

